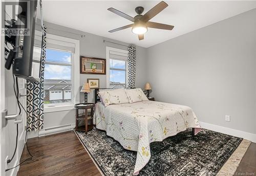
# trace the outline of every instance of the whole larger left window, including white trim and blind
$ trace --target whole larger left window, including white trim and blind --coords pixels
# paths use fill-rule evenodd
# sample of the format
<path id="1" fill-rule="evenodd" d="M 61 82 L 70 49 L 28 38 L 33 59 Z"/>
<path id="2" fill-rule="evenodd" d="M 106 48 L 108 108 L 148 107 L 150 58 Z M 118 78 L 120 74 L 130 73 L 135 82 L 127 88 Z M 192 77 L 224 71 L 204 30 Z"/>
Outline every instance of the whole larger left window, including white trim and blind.
<path id="1" fill-rule="evenodd" d="M 46 40 L 45 113 L 74 109 L 79 102 L 79 40 L 52 34 Z"/>

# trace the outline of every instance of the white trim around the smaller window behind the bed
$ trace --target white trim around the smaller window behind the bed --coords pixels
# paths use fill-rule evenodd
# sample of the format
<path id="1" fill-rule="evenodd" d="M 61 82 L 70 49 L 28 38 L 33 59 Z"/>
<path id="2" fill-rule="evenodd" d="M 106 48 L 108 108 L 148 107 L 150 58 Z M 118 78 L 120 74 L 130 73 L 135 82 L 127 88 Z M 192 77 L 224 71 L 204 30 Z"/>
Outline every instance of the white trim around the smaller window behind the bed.
<path id="1" fill-rule="evenodd" d="M 121 50 L 121 49 L 117 49 L 117 48 L 112 48 L 112 47 L 106 47 L 106 87 L 109 88 L 110 87 L 110 51 L 114 51 L 114 52 L 118 52 L 118 53 L 125 53 L 128 55 L 128 51 L 127 50 Z M 125 76 L 125 82 L 127 86 L 127 80 L 128 80 L 128 58 L 127 60 L 127 64 L 125 64 L 125 69 L 126 69 L 126 76 Z"/>

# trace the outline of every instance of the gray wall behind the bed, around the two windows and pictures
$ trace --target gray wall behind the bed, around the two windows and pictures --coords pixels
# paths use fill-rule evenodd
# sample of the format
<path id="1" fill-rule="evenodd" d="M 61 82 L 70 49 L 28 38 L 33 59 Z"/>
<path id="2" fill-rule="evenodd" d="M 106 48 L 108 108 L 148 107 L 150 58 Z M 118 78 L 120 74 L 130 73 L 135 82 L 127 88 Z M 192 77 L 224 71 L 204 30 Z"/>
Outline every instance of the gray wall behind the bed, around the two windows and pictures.
<path id="1" fill-rule="evenodd" d="M 39 23 L 39 21 L 37 21 Z M 40 23 L 39 23 L 40 24 Z M 112 39 L 104 38 L 102 36 L 74 30 L 71 28 L 55 25 L 52 23 L 48 23 L 45 21 L 45 26 L 47 28 L 48 34 L 59 35 L 63 37 L 69 37 L 73 39 L 77 39 L 80 41 L 80 55 L 81 56 L 89 56 L 89 57 L 99 57 L 106 58 L 106 46 L 114 47 L 118 49 L 127 50 L 127 47 L 116 45 L 110 42 L 103 42 L 103 39 L 114 41 L 121 43 L 123 45 L 128 45 L 127 43 L 115 41 Z M 37 29 L 40 28 L 40 25 L 36 26 Z M 74 33 L 74 34 L 73 34 Z M 85 37 L 81 37 L 81 35 L 85 35 Z M 139 68 L 136 70 L 136 87 L 143 87 L 145 83 L 146 77 L 146 49 L 142 47 L 136 47 L 136 67 Z M 88 78 L 98 78 L 100 79 L 100 88 L 106 87 L 106 75 L 91 75 L 91 74 L 80 74 L 80 89 L 84 82 L 87 82 Z M 84 94 L 80 93 L 80 102 L 84 101 Z M 88 102 L 94 102 L 93 92 L 89 94 Z M 62 112 L 54 112 L 54 113 L 46 113 L 45 114 L 45 127 L 52 127 L 58 125 L 65 125 L 75 122 L 75 111 L 62 111 Z"/>

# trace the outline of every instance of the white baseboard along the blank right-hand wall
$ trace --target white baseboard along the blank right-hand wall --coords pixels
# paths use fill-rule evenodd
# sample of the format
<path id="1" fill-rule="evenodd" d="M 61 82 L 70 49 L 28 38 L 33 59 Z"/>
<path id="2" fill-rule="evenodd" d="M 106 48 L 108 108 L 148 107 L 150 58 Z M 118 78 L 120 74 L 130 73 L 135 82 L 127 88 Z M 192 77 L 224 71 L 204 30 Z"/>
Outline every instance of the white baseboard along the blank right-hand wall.
<path id="1" fill-rule="evenodd" d="M 256 143 L 256 134 L 248 133 L 245 131 L 240 131 L 237 129 L 227 128 L 224 126 L 209 124 L 209 123 L 205 123 L 205 122 L 200 122 L 200 125 L 202 128 L 205 128 L 205 129 L 217 131 L 219 133 L 224 133 L 224 134 L 231 135 L 231 136 L 236 136 L 239 138 L 244 138 L 244 139 L 247 139 L 249 141 Z"/>

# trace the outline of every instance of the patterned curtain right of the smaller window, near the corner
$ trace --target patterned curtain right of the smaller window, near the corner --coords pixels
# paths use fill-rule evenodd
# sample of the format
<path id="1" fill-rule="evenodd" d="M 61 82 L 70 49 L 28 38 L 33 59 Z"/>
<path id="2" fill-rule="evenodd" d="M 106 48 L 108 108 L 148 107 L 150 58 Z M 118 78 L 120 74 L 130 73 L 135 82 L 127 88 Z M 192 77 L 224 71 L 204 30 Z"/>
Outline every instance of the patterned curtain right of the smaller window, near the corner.
<path id="1" fill-rule="evenodd" d="M 128 47 L 128 87 L 135 87 L 136 46 Z"/>

